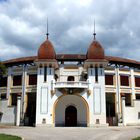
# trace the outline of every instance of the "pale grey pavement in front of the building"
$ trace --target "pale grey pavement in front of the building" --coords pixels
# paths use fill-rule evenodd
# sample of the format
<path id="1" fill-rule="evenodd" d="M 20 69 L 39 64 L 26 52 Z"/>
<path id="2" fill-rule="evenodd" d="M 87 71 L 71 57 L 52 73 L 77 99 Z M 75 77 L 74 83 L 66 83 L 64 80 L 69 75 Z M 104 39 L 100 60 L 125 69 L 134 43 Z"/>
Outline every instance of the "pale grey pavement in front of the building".
<path id="1" fill-rule="evenodd" d="M 24 140 L 132 140 L 140 136 L 140 126 L 127 127 L 4 127 L 0 133 Z"/>

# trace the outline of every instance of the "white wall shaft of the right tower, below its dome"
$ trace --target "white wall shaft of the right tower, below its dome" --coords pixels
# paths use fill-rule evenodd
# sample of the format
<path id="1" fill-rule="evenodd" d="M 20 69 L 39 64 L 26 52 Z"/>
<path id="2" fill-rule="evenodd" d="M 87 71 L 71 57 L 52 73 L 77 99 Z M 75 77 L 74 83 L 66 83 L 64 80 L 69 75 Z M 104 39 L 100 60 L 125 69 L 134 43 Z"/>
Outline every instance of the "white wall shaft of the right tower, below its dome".
<path id="1" fill-rule="evenodd" d="M 104 68 L 98 68 L 98 83 L 95 82 L 95 68 L 88 69 L 89 90 L 88 97 L 90 108 L 89 125 L 95 125 L 99 120 L 100 125 L 106 125 L 106 100 Z"/>

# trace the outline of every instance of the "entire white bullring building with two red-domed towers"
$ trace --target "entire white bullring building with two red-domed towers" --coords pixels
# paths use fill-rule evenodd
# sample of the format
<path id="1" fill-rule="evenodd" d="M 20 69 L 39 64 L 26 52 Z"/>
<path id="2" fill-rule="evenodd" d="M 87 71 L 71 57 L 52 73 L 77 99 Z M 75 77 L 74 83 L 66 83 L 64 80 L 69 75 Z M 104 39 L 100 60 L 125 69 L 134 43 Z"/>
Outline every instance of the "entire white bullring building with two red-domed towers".
<path id="1" fill-rule="evenodd" d="M 140 124 L 140 62 L 106 56 L 94 39 L 86 54 L 56 54 L 48 38 L 37 56 L 3 61 L 0 123 L 26 126 Z"/>

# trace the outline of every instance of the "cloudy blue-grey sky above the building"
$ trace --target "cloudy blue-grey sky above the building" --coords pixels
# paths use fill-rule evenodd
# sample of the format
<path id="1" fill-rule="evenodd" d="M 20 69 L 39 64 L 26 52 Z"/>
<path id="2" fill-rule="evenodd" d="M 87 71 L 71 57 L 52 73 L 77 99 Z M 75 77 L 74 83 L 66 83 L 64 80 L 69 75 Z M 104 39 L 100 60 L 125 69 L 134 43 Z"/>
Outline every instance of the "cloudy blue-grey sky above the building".
<path id="1" fill-rule="evenodd" d="M 140 61 L 139 0 L 0 0 L 0 60 L 35 56 L 46 39 L 57 54 L 105 54 Z"/>

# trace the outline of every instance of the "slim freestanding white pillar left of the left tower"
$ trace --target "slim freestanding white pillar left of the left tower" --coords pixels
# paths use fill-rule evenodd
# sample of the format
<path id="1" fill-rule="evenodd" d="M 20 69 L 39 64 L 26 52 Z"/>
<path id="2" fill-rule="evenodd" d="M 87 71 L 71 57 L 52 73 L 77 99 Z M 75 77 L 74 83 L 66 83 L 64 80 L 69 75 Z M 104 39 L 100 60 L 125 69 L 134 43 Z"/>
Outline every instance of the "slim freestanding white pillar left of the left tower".
<path id="1" fill-rule="evenodd" d="M 21 105 L 21 94 L 18 94 L 18 96 L 17 96 L 16 126 L 20 125 L 20 105 Z"/>

